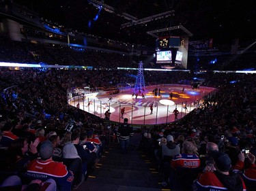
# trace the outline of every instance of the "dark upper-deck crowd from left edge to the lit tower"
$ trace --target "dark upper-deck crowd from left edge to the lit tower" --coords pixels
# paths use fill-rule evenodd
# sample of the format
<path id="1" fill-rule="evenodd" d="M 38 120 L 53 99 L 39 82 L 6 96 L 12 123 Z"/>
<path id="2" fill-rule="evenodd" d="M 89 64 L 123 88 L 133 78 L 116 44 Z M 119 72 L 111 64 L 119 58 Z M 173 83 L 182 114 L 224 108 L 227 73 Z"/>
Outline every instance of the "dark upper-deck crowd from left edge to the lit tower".
<path id="1" fill-rule="evenodd" d="M 15 63 L 44 63 L 46 65 L 92 66 L 98 69 L 137 67 L 138 56 L 103 50 L 77 50 L 63 44 L 32 44 L 0 38 L 0 60 Z M 63 56 L 65 55 L 65 56 Z M 132 62 L 133 61 L 133 62 Z"/>

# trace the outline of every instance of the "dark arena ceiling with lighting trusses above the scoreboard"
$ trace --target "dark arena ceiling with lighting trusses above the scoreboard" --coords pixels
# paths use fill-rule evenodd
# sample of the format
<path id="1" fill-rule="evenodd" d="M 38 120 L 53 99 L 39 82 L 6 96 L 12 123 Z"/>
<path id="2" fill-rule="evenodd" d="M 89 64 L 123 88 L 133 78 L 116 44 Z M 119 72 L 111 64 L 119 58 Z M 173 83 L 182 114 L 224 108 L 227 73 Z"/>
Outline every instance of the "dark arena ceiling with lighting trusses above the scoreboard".
<path id="1" fill-rule="evenodd" d="M 156 37 L 147 34 L 148 31 L 155 31 L 153 35 L 157 36 L 188 35 L 189 32 L 193 34 L 190 41 L 213 39 L 214 46 L 231 45 L 233 39 L 248 43 L 256 39 L 253 0 L 13 1 L 68 29 L 131 44 L 154 46 Z M 160 18 L 152 17 L 165 12 L 168 14 Z M 150 21 L 144 22 L 143 18 Z M 175 26 L 187 31 L 173 29 Z M 168 27 L 172 30 L 158 31 Z"/>

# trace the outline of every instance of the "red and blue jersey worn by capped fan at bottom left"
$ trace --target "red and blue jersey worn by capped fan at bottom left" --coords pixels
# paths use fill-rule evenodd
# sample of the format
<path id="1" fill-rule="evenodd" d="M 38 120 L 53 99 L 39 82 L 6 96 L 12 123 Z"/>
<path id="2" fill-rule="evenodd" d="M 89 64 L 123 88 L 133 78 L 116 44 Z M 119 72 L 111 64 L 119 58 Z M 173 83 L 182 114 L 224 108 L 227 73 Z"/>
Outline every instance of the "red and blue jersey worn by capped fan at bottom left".
<path id="1" fill-rule="evenodd" d="M 68 171 L 66 165 L 52 159 L 32 160 L 27 167 L 25 176 L 29 179 L 41 179 L 43 181 L 52 178 L 56 181 L 60 191 L 70 191 L 74 180 L 73 173 Z"/>

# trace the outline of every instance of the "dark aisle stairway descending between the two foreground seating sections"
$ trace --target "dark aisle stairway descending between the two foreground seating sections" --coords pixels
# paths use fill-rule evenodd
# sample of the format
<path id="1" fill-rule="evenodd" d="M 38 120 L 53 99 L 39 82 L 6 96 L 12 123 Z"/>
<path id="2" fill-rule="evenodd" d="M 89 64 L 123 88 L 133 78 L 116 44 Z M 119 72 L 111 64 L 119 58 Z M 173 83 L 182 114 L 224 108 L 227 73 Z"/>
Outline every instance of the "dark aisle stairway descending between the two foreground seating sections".
<path id="1" fill-rule="evenodd" d="M 130 139 L 128 154 L 122 154 L 119 145 L 111 143 L 94 172 L 77 190 L 162 190 L 154 162 L 150 162 L 147 156 L 139 151 L 140 138 L 139 133 L 134 133 L 134 137 Z"/>

